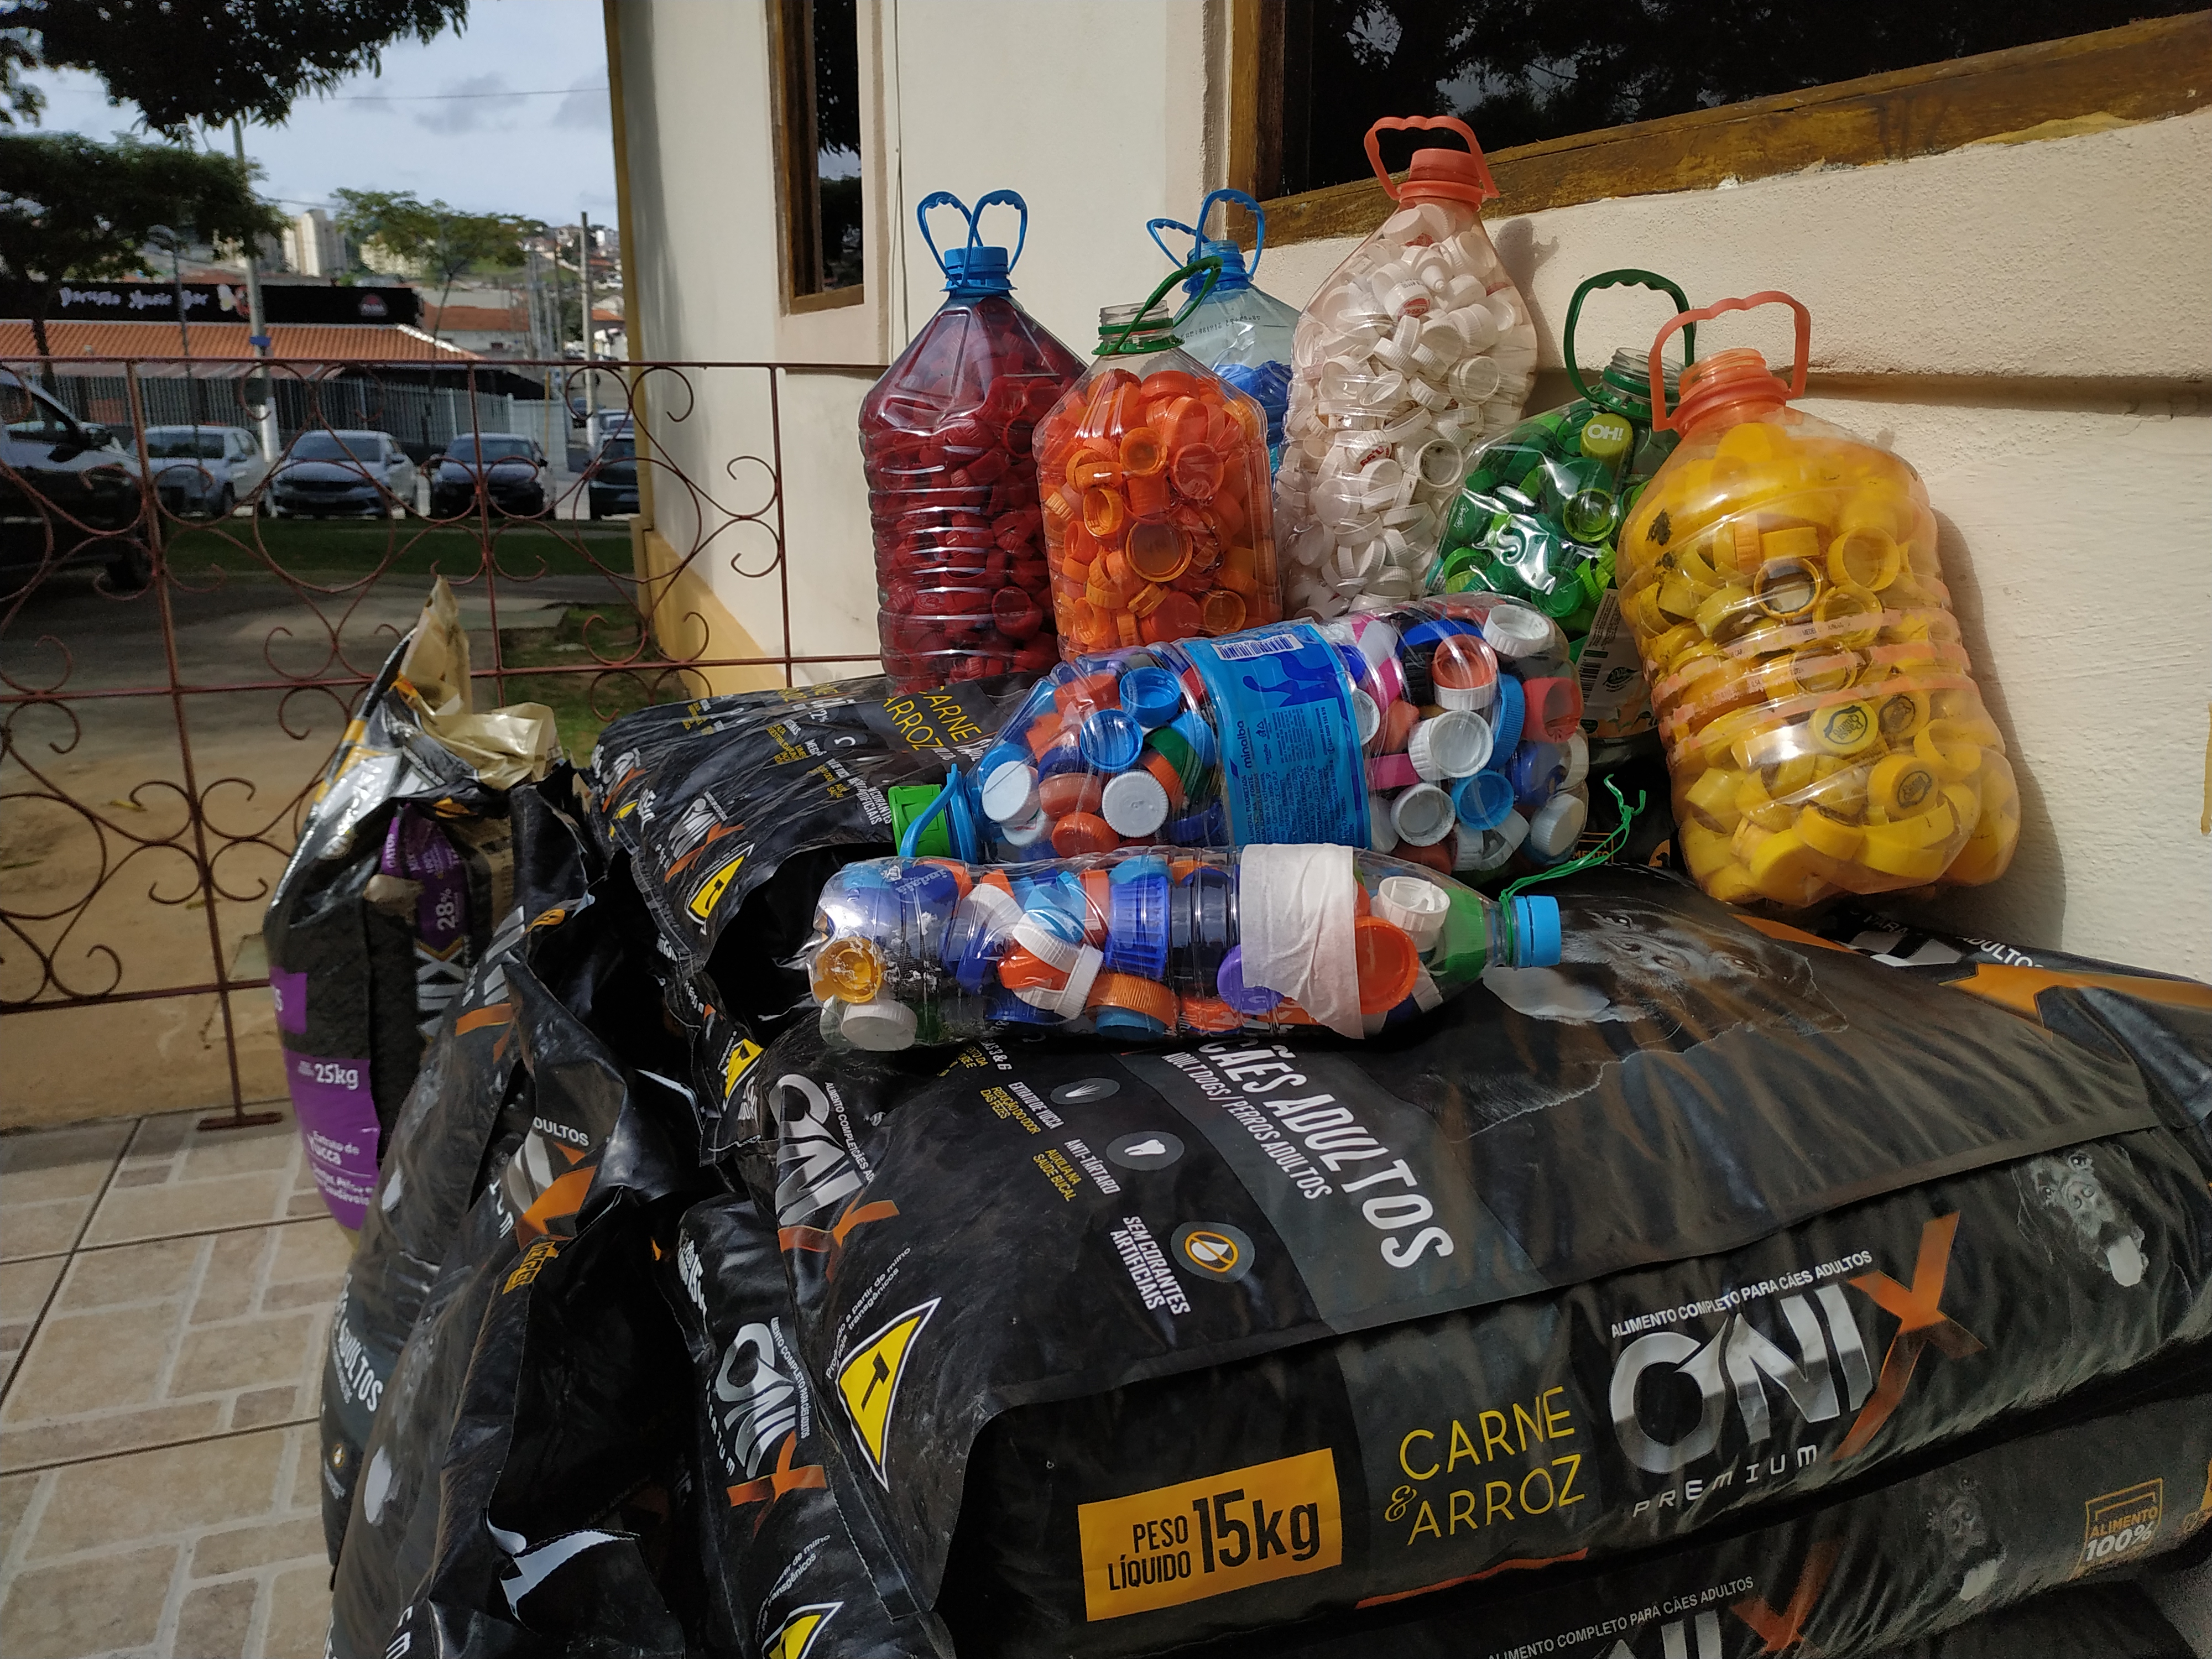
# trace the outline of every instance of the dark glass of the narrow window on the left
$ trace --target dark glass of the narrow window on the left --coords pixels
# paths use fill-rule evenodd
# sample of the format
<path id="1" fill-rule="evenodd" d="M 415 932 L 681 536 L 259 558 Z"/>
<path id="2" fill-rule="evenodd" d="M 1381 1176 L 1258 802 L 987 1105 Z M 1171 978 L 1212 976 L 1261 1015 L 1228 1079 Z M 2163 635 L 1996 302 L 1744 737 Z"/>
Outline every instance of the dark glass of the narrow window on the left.
<path id="1" fill-rule="evenodd" d="M 792 294 L 858 288 L 858 0 L 781 0 L 785 237 Z"/>

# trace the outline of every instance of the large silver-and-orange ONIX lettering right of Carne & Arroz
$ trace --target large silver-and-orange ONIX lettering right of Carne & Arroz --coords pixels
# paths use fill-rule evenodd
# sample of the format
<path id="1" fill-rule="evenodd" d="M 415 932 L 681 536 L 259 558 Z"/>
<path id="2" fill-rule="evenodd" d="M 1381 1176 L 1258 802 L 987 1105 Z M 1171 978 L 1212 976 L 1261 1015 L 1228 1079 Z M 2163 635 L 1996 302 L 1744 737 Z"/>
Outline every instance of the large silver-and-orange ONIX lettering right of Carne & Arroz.
<path id="1" fill-rule="evenodd" d="M 1849 1281 L 1851 1290 L 1898 1318 L 1898 1334 L 1882 1356 L 1880 1376 L 1869 1365 L 1858 1321 L 1836 1285 L 1823 1285 L 1812 1301 L 1783 1296 L 1776 1303 L 1790 1325 L 1796 1356 L 1759 1332 L 1743 1314 L 1734 1314 L 1708 1343 L 1681 1332 L 1639 1336 L 1621 1349 L 1621 1358 L 1613 1367 L 1608 1402 L 1621 1451 L 1639 1469 L 1655 1475 L 1686 1469 L 1719 1449 L 1730 1402 L 1743 1418 L 1745 1438 L 1759 1444 L 1774 1433 L 1767 1405 L 1767 1385 L 1774 1383 L 1805 1422 L 1829 1422 L 1845 1409 L 1856 1411 L 1858 1416 L 1843 1444 L 1836 1447 L 1834 1460 L 1843 1462 L 1856 1455 L 1898 1409 L 1922 1349 L 1936 1347 L 1940 1354 L 1962 1358 L 1982 1347 L 1980 1338 L 1940 1307 L 1955 1232 L 1958 1214 L 1938 1217 L 1920 1230 L 1920 1256 L 1913 1263 L 1909 1287 L 1880 1272 L 1858 1274 Z M 1814 1303 L 1825 1316 L 1825 1334 L 1823 1321 L 1814 1316 Z M 1672 1367 L 1674 1376 L 1694 1383 L 1699 1391 L 1697 1425 L 1674 1440 L 1661 1440 L 1648 1431 L 1637 1411 L 1644 1376 L 1659 1367 Z"/>

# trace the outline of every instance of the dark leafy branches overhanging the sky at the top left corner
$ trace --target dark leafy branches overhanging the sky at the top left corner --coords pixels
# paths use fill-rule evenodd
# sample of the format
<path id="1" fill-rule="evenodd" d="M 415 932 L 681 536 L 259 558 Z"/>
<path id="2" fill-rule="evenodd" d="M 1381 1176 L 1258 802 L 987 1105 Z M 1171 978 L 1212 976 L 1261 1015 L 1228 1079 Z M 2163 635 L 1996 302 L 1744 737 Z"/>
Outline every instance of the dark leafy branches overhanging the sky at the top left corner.
<path id="1" fill-rule="evenodd" d="M 175 139 L 195 124 L 283 126 L 294 100 L 467 18 L 469 0 L 0 0 L 0 29 L 22 31 L 33 66 L 97 75 L 111 104 L 137 104 Z"/>

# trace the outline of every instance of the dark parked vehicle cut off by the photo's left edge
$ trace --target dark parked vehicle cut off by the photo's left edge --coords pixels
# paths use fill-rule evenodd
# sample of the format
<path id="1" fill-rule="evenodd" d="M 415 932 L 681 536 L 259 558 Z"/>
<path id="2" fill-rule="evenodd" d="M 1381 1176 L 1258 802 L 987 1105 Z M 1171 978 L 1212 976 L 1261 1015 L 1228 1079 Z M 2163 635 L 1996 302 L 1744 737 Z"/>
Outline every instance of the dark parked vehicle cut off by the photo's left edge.
<path id="1" fill-rule="evenodd" d="M 0 593 L 20 588 L 49 555 L 104 557 L 115 586 L 153 577 L 137 456 L 93 442 L 69 409 L 13 369 L 0 369 Z"/>

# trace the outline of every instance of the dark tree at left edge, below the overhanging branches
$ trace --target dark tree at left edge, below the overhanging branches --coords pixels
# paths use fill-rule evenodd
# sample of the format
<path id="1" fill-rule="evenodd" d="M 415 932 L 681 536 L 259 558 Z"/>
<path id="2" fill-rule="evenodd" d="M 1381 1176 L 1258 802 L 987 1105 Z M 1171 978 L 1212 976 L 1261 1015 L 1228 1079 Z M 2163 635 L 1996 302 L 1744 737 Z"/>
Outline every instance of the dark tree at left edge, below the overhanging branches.
<path id="1" fill-rule="evenodd" d="M 0 133 L 0 274 L 31 290 L 31 336 L 49 356 L 46 312 L 64 276 L 146 272 L 153 226 L 190 228 L 208 241 L 283 230 L 228 155 L 117 135 Z"/>

